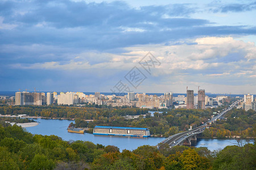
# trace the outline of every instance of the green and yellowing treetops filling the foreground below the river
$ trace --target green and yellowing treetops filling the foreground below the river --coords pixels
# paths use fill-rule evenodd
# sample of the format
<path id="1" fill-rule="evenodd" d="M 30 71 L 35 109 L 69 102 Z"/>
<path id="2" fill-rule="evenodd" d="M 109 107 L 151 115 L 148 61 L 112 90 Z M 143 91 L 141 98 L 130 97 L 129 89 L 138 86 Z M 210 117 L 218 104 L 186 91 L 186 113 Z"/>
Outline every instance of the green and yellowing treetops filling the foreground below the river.
<path id="1" fill-rule="evenodd" d="M 0 122 L 1 169 L 255 169 L 256 146 L 141 146 L 133 151 L 86 141 L 63 141 L 32 135 L 19 126 Z"/>

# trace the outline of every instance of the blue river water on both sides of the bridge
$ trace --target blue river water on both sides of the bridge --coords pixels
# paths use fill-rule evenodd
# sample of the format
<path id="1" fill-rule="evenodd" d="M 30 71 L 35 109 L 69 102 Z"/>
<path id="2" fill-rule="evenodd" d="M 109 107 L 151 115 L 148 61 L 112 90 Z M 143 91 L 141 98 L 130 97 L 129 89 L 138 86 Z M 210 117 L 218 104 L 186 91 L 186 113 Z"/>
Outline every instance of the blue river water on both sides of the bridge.
<path id="1" fill-rule="evenodd" d="M 162 142 L 164 138 L 160 137 L 149 137 L 149 138 L 138 138 L 138 137 L 118 137 L 118 136 L 105 136 L 105 135 L 93 135 L 89 133 L 77 134 L 68 133 L 67 128 L 71 122 L 69 120 L 51 120 L 51 119 L 34 119 L 39 123 L 37 126 L 28 127 L 26 130 L 32 134 L 42 135 L 57 135 L 65 141 L 90 141 L 94 144 L 101 145 L 114 145 L 117 146 L 120 151 L 135 150 L 137 147 L 142 145 L 156 146 Z M 197 139 L 197 142 L 193 142 L 192 146 L 195 147 L 208 147 L 209 150 L 223 149 L 228 145 L 234 145 L 236 140 L 234 139 Z"/>

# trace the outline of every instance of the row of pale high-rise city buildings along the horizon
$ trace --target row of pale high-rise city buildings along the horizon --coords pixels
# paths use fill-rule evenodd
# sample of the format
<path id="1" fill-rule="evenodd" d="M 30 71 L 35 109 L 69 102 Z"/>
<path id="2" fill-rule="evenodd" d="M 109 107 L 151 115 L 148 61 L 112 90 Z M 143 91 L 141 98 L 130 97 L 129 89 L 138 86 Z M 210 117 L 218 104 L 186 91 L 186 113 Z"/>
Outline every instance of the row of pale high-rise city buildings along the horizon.
<path id="1" fill-rule="evenodd" d="M 0 96 L 1 97 L 1 96 Z M 2 96 L 7 99 L 6 96 Z M 11 96 L 11 105 L 15 99 L 15 105 L 75 105 L 82 107 L 82 105 L 108 105 L 111 107 L 135 107 L 147 109 L 206 109 L 216 108 L 221 105 L 229 104 L 232 97 L 217 95 L 207 96 L 204 90 L 198 89 L 198 94 L 193 94 L 193 90 L 187 89 L 187 96 L 174 96 L 172 92 L 164 93 L 160 96 L 155 94 L 135 94 L 129 92 L 127 95 L 116 96 L 114 94 L 101 94 L 95 92 L 94 94 L 84 94 L 82 92 L 15 92 L 15 98 Z M 256 99 L 253 95 L 243 95 L 242 100 L 240 96 L 233 97 L 233 99 L 240 99 L 238 108 L 243 108 L 245 111 L 253 109 L 255 111 Z M 9 100 L 10 104 L 10 100 Z"/>

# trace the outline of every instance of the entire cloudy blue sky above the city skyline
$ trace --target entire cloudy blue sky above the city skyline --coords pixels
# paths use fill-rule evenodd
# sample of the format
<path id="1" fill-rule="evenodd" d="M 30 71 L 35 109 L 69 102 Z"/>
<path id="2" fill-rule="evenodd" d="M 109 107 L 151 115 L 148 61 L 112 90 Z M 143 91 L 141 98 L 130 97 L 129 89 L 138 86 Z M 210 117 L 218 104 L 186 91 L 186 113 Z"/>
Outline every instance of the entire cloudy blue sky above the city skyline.
<path id="1" fill-rule="evenodd" d="M 0 91 L 256 94 L 256 1 L 0 1 Z"/>

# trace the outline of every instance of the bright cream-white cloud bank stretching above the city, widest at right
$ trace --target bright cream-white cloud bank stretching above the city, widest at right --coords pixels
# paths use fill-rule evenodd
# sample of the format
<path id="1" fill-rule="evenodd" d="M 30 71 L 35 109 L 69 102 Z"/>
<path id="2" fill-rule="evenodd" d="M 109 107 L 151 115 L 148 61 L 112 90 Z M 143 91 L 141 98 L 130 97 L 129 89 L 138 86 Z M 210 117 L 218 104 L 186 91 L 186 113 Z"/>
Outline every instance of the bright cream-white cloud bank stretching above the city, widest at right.
<path id="1" fill-rule="evenodd" d="M 210 40 L 213 40 L 211 44 Z M 207 37 L 196 39 L 194 42 L 200 43 L 138 45 L 124 48 L 125 53 L 119 54 L 84 52 L 74 54 L 73 58 L 69 56 L 71 59 L 64 61 L 16 63 L 11 66 L 20 69 L 65 70 L 69 72 L 83 70 L 85 73 L 87 70 L 92 76 L 95 76 L 93 74 L 103 76 L 106 73 L 115 75 L 120 71 L 129 71 L 134 66 L 142 69 L 138 62 L 150 51 L 161 63 L 158 68 L 152 70 L 151 75 L 147 75 L 146 84 L 151 84 L 151 88 L 154 89 L 156 87 L 161 87 L 161 90 L 164 89 L 163 87 L 178 89 L 196 85 L 213 88 L 214 84 L 217 84 L 216 87 L 229 90 L 230 86 L 233 88 L 244 84 L 245 87 L 251 88 L 251 83 L 256 83 L 255 59 L 250 57 L 249 61 L 246 57 L 254 53 L 254 44 L 234 40 L 232 37 Z M 233 60 L 229 56 L 230 54 L 236 54 L 238 59 Z M 158 79 L 159 83 L 154 85 L 155 79 Z M 172 81 L 170 82 L 168 79 Z M 138 90 L 147 89 L 146 84 Z M 216 88 L 215 90 L 217 92 Z"/>

